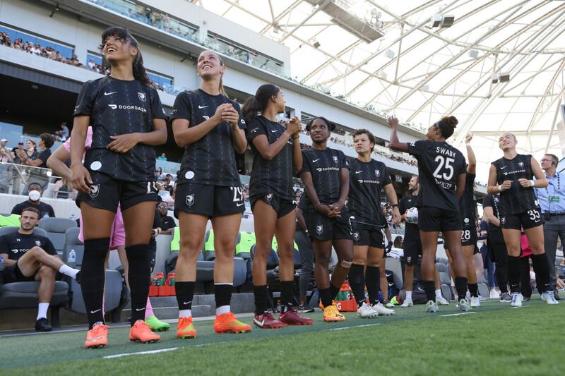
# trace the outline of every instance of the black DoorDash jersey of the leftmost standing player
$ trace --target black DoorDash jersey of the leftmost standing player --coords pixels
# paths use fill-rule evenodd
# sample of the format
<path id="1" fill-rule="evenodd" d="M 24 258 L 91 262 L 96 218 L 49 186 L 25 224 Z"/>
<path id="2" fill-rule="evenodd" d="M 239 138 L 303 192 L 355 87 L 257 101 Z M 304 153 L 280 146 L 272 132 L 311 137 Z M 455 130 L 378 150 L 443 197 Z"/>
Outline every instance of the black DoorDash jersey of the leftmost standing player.
<path id="1" fill-rule="evenodd" d="M 155 181 L 155 150 L 137 144 L 126 153 L 108 150 L 111 136 L 148 133 L 153 119 L 166 119 L 157 90 L 138 80 L 125 81 L 106 76 L 85 83 L 78 95 L 74 116 L 90 116 L 93 143 L 86 151 L 84 165 L 117 180 Z"/>

